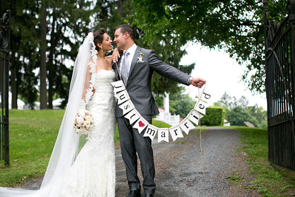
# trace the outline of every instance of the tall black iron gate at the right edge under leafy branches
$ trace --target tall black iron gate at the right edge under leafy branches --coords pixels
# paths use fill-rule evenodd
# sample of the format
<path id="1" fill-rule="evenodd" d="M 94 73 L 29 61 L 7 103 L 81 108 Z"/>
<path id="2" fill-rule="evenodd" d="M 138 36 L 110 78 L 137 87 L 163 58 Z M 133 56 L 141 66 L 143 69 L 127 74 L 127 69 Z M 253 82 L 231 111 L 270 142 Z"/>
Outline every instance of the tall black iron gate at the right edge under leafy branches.
<path id="1" fill-rule="evenodd" d="M 295 170 L 295 0 L 280 24 L 268 18 L 264 0 L 268 159 Z"/>

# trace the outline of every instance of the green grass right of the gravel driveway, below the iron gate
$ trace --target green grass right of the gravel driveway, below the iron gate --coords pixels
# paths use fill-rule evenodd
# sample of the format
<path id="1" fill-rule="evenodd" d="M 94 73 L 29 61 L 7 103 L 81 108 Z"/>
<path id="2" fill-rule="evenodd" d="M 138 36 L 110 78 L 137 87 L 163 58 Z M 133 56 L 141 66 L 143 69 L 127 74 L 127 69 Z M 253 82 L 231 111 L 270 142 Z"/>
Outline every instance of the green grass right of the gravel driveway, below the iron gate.
<path id="1" fill-rule="evenodd" d="M 268 162 L 267 130 L 248 127 L 224 127 L 241 132 L 242 146 L 238 152 L 246 152 L 246 164 L 250 165 L 248 173 L 255 175 L 245 189 L 257 189 L 264 197 L 290 197 L 295 196 L 295 172 L 274 167 Z M 236 172 L 236 180 L 238 171 Z"/>

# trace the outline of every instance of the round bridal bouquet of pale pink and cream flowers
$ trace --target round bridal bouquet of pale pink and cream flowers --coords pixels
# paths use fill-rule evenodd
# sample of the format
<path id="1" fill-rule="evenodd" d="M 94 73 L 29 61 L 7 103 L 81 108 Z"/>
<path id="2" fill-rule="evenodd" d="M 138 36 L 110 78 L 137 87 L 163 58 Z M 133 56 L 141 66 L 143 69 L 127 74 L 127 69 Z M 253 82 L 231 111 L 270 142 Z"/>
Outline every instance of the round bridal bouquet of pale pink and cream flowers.
<path id="1" fill-rule="evenodd" d="M 89 133 L 90 129 L 94 126 L 92 114 L 88 110 L 78 111 L 75 122 L 74 131 L 77 134 L 85 136 Z"/>

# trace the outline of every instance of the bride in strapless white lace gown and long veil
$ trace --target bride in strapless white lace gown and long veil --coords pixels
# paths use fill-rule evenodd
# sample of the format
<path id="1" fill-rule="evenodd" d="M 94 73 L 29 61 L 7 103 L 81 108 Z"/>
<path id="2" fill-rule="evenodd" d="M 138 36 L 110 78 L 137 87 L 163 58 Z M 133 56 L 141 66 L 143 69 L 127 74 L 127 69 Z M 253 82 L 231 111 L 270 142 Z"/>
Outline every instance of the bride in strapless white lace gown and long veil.
<path id="1" fill-rule="evenodd" d="M 2 187 L 0 197 L 115 197 L 116 121 L 110 83 L 116 79 L 111 62 L 118 51 L 114 50 L 113 58 L 105 57 L 111 43 L 100 28 L 89 33 L 79 49 L 68 104 L 40 189 Z M 92 113 L 95 127 L 78 154 L 79 136 L 73 125 L 77 112 L 85 108 Z"/>

